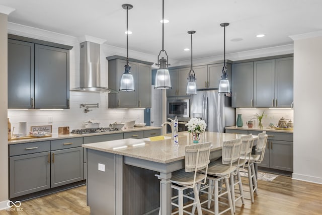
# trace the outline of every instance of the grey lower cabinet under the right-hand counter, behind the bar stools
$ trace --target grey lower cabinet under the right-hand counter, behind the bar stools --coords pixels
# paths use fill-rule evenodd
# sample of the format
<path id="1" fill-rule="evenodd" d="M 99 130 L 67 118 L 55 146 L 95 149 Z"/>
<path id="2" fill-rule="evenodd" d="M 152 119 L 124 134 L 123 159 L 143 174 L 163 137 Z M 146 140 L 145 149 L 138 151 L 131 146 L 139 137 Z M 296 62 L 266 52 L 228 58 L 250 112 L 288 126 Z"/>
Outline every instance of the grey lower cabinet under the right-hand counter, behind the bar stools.
<path id="1" fill-rule="evenodd" d="M 246 133 L 247 132 L 247 133 Z M 262 131 L 226 129 L 226 133 L 258 135 Z M 293 133 L 266 132 L 268 135 L 264 160 L 258 164 L 276 170 L 293 172 Z"/>

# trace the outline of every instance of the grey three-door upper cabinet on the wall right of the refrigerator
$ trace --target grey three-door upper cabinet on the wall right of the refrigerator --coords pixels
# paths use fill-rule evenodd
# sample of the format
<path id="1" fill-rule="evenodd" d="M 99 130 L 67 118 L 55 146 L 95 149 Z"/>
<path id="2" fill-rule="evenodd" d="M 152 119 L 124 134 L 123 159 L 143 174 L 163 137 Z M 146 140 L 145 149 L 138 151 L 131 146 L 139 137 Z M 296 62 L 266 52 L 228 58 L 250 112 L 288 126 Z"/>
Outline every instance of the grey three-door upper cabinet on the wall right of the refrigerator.
<path id="1" fill-rule="evenodd" d="M 293 57 L 232 65 L 233 107 L 290 108 L 293 102 Z"/>

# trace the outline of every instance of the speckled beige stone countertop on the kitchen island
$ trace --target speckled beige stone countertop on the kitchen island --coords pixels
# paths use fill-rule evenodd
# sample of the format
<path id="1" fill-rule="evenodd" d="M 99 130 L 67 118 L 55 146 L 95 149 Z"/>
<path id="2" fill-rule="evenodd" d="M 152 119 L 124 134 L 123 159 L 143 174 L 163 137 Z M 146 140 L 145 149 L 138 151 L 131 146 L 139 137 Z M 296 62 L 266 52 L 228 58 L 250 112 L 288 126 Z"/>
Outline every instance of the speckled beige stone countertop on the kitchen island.
<path id="1" fill-rule="evenodd" d="M 216 151 L 222 149 L 224 140 L 235 139 L 239 136 L 242 136 L 242 134 L 204 132 L 200 135 L 199 142 L 211 141 L 211 151 Z M 253 137 L 257 138 L 255 135 Z M 178 148 L 174 146 L 173 141 L 171 138 L 157 141 L 130 138 L 83 144 L 82 146 L 87 149 L 167 164 L 183 160 L 185 146 L 194 144 L 188 131 L 179 132 Z"/>

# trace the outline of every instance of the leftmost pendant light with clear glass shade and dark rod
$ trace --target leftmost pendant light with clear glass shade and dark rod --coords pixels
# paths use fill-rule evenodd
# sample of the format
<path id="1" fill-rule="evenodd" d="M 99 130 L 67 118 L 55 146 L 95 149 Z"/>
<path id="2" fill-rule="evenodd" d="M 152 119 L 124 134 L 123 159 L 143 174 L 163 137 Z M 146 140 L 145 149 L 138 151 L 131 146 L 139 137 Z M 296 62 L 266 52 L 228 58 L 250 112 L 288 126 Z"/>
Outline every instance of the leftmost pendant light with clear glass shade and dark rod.
<path id="1" fill-rule="evenodd" d="M 124 4 L 122 8 L 126 10 L 126 65 L 125 71 L 121 77 L 120 91 L 134 91 L 134 79 L 129 65 L 129 33 L 128 33 L 128 10 L 133 8 L 132 5 Z"/>

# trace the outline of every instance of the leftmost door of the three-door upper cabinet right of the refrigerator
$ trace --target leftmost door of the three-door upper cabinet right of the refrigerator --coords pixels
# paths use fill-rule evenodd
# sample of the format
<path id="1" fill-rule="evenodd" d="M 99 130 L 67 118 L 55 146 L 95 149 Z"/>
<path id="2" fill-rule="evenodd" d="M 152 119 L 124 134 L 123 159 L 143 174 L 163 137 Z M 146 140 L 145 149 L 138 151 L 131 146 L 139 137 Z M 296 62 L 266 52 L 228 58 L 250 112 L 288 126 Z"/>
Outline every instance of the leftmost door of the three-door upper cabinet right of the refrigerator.
<path id="1" fill-rule="evenodd" d="M 232 64 L 231 70 L 232 107 L 253 107 L 254 62 Z"/>

